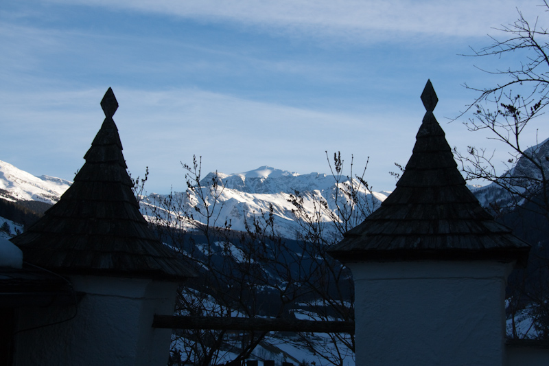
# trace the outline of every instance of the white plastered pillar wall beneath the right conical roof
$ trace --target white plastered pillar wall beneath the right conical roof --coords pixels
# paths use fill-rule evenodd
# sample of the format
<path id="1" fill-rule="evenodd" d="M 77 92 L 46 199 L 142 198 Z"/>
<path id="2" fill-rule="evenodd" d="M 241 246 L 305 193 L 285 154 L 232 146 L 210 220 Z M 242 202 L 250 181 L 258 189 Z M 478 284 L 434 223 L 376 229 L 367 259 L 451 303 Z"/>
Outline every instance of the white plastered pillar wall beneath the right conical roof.
<path id="1" fill-rule="evenodd" d="M 512 264 L 351 263 L 356 364 L 504 365 Z"/>

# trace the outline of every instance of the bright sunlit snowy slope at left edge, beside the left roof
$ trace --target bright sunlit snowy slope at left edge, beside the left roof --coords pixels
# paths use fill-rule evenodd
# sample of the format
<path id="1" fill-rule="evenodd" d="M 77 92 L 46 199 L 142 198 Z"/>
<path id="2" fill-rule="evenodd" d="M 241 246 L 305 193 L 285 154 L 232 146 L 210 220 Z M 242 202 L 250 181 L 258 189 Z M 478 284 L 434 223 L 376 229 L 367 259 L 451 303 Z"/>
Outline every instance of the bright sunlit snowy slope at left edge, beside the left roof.
<path id="1" fill-rule="evenodd" d="M 53 176 L 34 176 L 0 160 L 0 197 L 5 200 L 54 204 L 71 184 Z"/>

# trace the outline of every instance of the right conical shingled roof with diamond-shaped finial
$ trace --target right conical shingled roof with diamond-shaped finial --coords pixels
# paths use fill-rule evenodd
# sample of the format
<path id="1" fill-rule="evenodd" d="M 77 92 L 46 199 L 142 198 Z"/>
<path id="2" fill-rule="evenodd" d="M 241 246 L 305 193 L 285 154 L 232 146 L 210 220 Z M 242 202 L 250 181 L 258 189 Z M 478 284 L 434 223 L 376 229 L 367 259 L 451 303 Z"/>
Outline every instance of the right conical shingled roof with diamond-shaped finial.
<path id="1" fill-rule="evenodd" d="M 432 113 L 438 99 L 430 80 L 421 99 L 427 112 L 395 191 L 329 253 L 343 262 L 517 260 L 526 265 L 530 245 L 493 220 L 458 171 Z"/>

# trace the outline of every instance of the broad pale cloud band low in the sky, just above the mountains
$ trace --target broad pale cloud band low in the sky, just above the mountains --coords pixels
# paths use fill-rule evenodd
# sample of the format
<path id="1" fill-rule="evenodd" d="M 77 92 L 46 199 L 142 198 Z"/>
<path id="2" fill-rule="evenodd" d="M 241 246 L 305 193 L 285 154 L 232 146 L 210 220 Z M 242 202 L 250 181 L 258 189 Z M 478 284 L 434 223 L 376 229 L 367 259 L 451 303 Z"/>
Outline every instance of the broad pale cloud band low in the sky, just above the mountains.
<path id="1" fill-rule="evenodd" d="M 325 150 L 341 151 L 347 164 L 353 155 L 357 167 L 372 157 L 369 181 L 390 189 L 394 182 L 388 171 L 394 162 L 406 163 L 423 116 L 419 98 L 413 109 L 325 113 L 198 89 L 113 89 L 120 104 L 114 119 L 130 172 L 143 174 L 150 167 L 149 186 L 156 192 L 171 186 L 183 190 L 180 161 L 190 163 L 193 155 L 202 157 L 204 172 L 272 165 L 303 174 L 327 172 Z M 36 174 L 72 179 L 104 118 L 99 105 L 103 93 L 27 93 L 25 100 L 19 93 L 0 93 L 12 106 L 2 118 L 18 122 L 1 137 L 2 149 L 13 152 L 4 152 L 3 159 L 23 169 L 25 161 L 34 161 L 48 167 Z M 439 121 L 443 123 L 441 117 Z M 458 124 L 443 127 L 450 144 L 463 138 L 482 144 L 483 137 L 465 136 Z M 31 148 L 21 149 L 22 135 Z"/>

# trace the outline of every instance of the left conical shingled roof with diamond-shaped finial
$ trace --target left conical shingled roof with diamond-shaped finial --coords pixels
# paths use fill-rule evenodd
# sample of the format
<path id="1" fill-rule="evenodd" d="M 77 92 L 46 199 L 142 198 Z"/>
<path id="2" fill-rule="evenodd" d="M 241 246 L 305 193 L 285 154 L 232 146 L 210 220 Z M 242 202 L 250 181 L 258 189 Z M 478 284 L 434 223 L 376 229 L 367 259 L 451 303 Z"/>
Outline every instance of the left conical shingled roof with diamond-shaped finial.
<path id="1" fill-rule="evenodd" d="M 12 239 L 26 262 L 57 273 L 179 280 L 195 277 L 148 228 L 126 172 L 113 115 L 112 89 L 101 106 L 106 118 L 86 152 L 86 163 L 60 201 Z"/>

